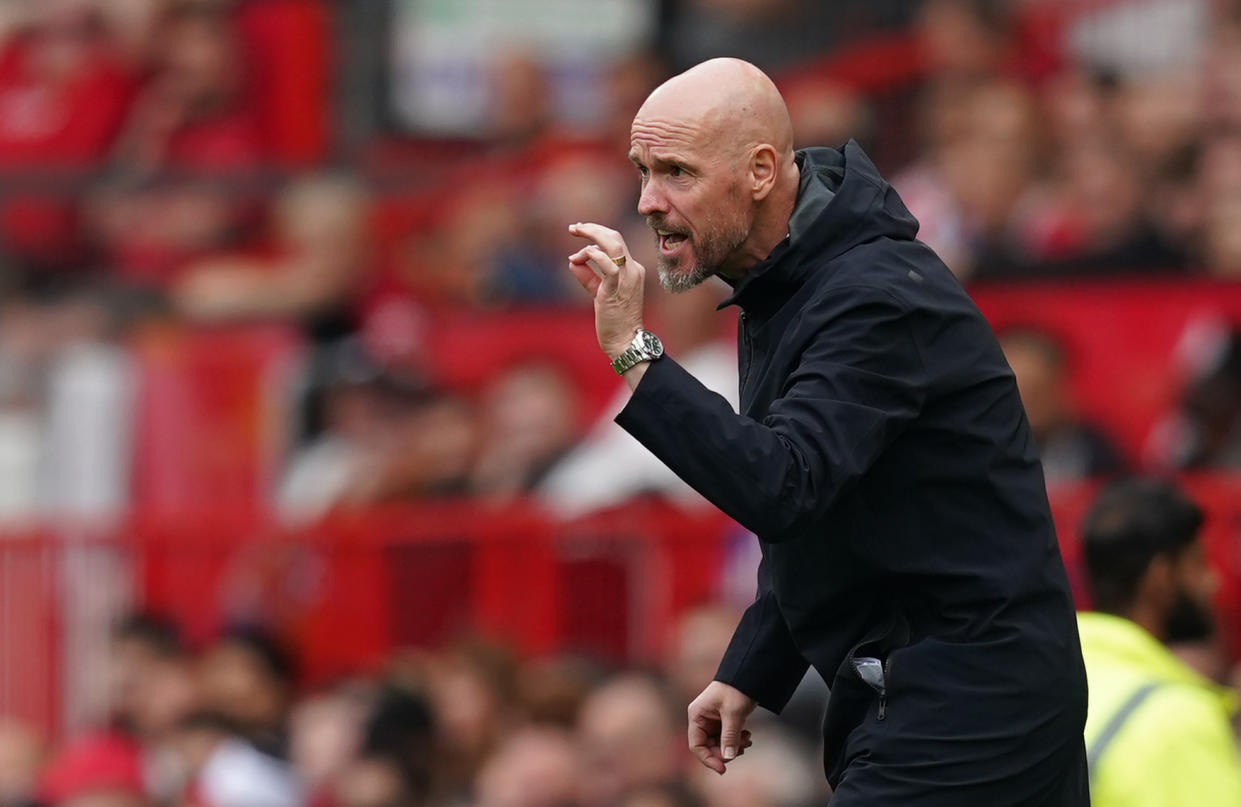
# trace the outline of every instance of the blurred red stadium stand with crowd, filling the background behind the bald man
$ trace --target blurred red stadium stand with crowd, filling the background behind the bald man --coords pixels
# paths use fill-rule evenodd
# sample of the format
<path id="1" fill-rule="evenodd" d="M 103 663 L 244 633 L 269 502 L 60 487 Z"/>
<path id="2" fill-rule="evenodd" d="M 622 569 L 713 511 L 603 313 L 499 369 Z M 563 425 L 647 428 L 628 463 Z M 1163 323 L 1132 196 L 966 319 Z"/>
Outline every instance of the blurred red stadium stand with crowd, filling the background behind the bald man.
<path id="1" fill-rule="evenodd" d="M 1098 480 L 1184 474 L 1235 660 L 1239 5 L 0 0 L 0 805 L 823 803 L 822 684 L 684 751 L 757 549 L 565 271 L 649 261 L 629 120 L 722 55 L 992 319 L 1075 585 Z M 735 397 L 722 295 L 650 324 Z"/>

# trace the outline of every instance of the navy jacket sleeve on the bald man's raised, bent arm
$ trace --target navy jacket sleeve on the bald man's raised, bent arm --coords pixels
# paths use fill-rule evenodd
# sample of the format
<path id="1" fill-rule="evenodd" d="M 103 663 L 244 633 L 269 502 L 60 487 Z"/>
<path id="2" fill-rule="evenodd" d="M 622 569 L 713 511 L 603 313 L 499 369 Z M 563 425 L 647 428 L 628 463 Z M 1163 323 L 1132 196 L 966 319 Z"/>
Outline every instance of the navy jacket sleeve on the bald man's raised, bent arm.
<path id="1" fill-rule="evenodd" d="M 764 541 L 828 512 L 922 408 L 911 314 L 884 292 L 808 310 L 823 322 L 762 421 L 671 359 L 648 367 L 617 423 Z M 752 367 L 761 372 L 762 367 Z"/>

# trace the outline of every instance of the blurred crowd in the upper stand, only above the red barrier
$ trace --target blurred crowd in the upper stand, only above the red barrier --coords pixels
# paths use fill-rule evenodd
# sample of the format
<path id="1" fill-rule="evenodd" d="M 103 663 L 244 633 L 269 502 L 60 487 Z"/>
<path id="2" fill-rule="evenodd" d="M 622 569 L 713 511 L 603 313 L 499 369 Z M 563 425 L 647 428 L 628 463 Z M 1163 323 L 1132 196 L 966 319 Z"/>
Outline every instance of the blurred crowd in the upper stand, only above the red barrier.
<path id="1" fill-rule="evenodd" d="M 254 322 L 285 323 L 309 350 L 299 415 L 278 426 L 280 512 L 542 485 L 563 512 L 593 507 L 563 500 L 552 473 L 591 440 L 581 379 L 535 360 L 453 389 L 429 360 L 437 318 L 581 309 L 567 222 L 611 223 L 649 262 L 628 123 L 670 71 L 717 53 L 774 72 L 800 144 L 871 150 L 964 282 L 1241 273 L 1235 2 L 650 4 L 649 47 L 601 60 L 592 120 L 561 119 L 552 76 L 514 46 L 480 78 L 489 117 L 474 137 L 379 128 L 361 147 L 340 122 L 340 96 L 359 89 L 341 65 L 359 7 L 0 4 L 5 514 L 123 509 L 134 334 Z M 839 70 L 834 55 L 859 42 L 889 42 L 875 52 L 892 60 L 891 86 Z M 712 293 L 683 305 L 706 310 Z M 665 336 L 678 355 L 728 349 L 726 318 L 659 324 L 683 317 L 684 341 Z M 1008 344 L 1049 477 L 1236 466 L 1241 396 L 1203 406 L 1186 390 L 1149 449 L 1124 451 L 1080 422 L 1055 335 Z M 726 358 L 706 355 L 727 391 L 714 369 Z M 1200 385 L 1241 389 L 1224 364 Z M 596 459 L 624 456 L 594 443 Z M 671 478 L 643 485 L 692 498 Z"/>

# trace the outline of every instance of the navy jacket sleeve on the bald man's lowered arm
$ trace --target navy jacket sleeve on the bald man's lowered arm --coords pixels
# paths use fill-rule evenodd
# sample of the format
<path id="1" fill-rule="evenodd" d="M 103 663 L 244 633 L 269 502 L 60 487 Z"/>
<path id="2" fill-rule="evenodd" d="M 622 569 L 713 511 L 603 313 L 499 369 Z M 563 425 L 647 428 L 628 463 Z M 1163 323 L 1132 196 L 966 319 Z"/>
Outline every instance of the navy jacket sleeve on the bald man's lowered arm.
<path id="1" fill-rule="evenodd" d="M 740 689 L 763 709 L 779 713 L 808 667 L 776 605 L 764 561 L 758 566 L 758 596 L 741 616 L 715 680 Z"/>

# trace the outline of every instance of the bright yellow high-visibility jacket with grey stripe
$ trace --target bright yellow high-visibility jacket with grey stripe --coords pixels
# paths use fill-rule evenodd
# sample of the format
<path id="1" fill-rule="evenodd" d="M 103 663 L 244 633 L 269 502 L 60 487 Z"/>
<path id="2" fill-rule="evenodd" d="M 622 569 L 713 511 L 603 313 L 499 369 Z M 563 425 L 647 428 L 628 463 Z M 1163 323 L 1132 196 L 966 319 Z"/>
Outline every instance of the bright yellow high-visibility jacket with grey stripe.
<path id="1" fill-rule="evenodd" d="M 1093 807 L 1241 807 L 1229 690 L 1128 620 L 1078 615 Z"/>

